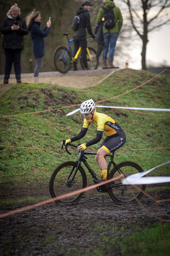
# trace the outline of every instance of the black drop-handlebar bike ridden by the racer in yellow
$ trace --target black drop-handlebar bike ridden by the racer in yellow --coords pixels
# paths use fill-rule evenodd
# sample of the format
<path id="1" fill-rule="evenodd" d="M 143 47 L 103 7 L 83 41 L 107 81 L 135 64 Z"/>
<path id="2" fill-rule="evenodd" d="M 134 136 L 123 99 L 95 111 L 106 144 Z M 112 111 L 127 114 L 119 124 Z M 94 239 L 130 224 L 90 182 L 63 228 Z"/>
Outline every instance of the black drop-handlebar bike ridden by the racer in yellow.
<path id="1" fill-rule="evenodd" d="M 63 145 L 65 144 L 65 140 L 63 140 Z M 62 146 L 63 147 L 63 146 Z M 72 143 L 68 143 L 65 145 L 66 152 L 71 155 L 70 151 L 67 147 L 74 147 L 77 148 L 77 145 Z M 95 172 L 91 169 L 87 162 L 86 155 L 97 155 L 97 153 L 90 152 L 90 151 L 80 151 L 78 150 L 78 159 L 77 161 L 66 161 L 61 163 L 56 167 L 53 171 L 50 181 L 49 181 L 49 191 L 52 198 L 56 196 L 60 196 L 63 194 L 70 193 L 72 191 L 86 188 L 87 187 L 87 175 L 84 171 L 82 164 L 83 163 L 91 177 L 93 182 L 99 182 Z M 116 164 L 113 160 L 114 153 L 108 154 L 107 157 L 110 157 L 108 167 L 107 167 L 107 180 L 118 177 L 120 174 L 123 174 L 124 177 L 128 177 L 134 173 L 143 172 L 142 167 L 137 163 L 131 161 L 124 161 L 119 164 Z M 111 167 L 112 166 L 112 167 Z M 131 189 L 129 189 L 129 187 Z M 146 185 L 139 185 L 139 188 L 145 191 Z M 140 199 L 143 193 L 133 186 L 126 186 L 123 185 L 121 179 L 117 179 L 113 182 L 109 182 L 106 185 L 102 185 L 97 187 L 97 191 L 100 193 L 108 193 L 112 200 L 116 203 L 125 203 L 127 201 L 134 201 L 135 198 Z M 131 193 L 132 191 L 132 193 Z M 67 197 L 61 199 L 60 201 L 55 201 L 56 203 L 73 203 L 78 202 L 83 193 L 79 193 L 77 195 L 73 195 L 71 197 Z"/>

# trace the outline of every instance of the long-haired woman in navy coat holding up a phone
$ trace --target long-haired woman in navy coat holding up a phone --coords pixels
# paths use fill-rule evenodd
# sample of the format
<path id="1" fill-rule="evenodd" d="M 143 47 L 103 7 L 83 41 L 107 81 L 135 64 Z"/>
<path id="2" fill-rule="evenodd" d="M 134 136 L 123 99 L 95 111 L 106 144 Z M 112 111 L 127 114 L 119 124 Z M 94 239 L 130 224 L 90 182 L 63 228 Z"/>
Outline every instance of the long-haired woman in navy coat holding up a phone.
<path id="1" fill-rule="evenodd" d="M 45 41 L 44 37 L 48 36 L 51 26 L 50 18 L 46 23 L 45 29 L 40 28 L 41 24 L 41 14 L 35 9 L 27 15 L 27 26 L 30 31 L 30 36 L 32 40 L 32 50 L 34 58 L 36 59 L 36 67 L 33 75 L 33 83 L 39 83 L 39 71 L 43 66 L 43 58 L 45 55 L 44 47 Z"/>

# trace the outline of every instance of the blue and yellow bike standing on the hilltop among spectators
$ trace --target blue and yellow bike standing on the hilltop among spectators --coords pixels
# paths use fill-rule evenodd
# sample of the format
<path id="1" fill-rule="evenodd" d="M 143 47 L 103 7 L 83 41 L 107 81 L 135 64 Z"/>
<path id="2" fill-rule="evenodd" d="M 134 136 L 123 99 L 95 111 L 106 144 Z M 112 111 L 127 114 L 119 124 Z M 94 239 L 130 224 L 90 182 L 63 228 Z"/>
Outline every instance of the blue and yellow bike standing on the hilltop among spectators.
<path id="1" fill-rule="evenodd" d="M 80 59 L 81 67 L 82 69 L 84 69 L 84 65 L 81 58 L 81 47 L 79 47 L 78 52 L 75 54 L 75 57 L 73 57 L 71 43 L 73 41 L 77 41 L 77 39 L 69 40 L 69 34 L 70 33 L 63 33 L 63 35 L 67 37 L 68 45 L 66 47 L 58 46 L 55 49 L 53 54 L 54 67 L 62 74 L 67 73 L 71 68 L 71 64 L 73 62 L 77 63 L 79 59 Z M 86 37 L 91 37 L 91 36 L 86 36 Z M 96 55 L 96 50 L 91 46 L 87 47 L 87 63 L 88 63 L 89 69 L 97 69 L 99 64 L 99 60 Z"/>

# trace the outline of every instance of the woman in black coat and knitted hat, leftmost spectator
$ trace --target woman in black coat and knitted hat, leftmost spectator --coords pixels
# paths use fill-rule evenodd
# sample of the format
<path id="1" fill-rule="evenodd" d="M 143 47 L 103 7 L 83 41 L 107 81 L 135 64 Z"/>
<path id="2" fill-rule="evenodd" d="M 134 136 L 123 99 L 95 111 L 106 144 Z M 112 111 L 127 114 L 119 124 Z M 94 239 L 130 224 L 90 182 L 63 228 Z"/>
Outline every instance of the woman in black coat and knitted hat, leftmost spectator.
<path id="1" fill-rule="evenodd" d="M 2 48 L 6 57 L 4 84 L 8 84 L 13 63 L 16 83 L 21 83 L 21 52 L 24 49 L 23 36 L 28 34 L 28 28 L 20 14 L 21 11 L 18 5 L 12 5 L 0 27 L 0 32 L 4 34 Z"/>

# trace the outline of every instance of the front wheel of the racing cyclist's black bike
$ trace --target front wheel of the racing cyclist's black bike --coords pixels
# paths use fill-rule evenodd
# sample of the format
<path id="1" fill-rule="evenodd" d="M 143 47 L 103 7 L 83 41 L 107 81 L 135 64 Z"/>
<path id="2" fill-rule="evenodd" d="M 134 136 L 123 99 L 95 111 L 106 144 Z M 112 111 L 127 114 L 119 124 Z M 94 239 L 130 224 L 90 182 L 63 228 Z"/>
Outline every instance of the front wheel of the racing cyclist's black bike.
<path id="1" fill-rule="evenodd" d="M 87 186 L 87 176 L 82 166 L 78 167 L 77 173 L 75 170 L 78 163 L 73 161 L 64 162 L 56 167 L 49 181 L 49 192 L 52 198 L 65 195 L 75 190 L 85 188 Z M 73 175 L 75 176 L 73 177 Z M 83 193 L 72 195 L 56 201 L 62 203 L 77 202 L 83 196 Z"/>

